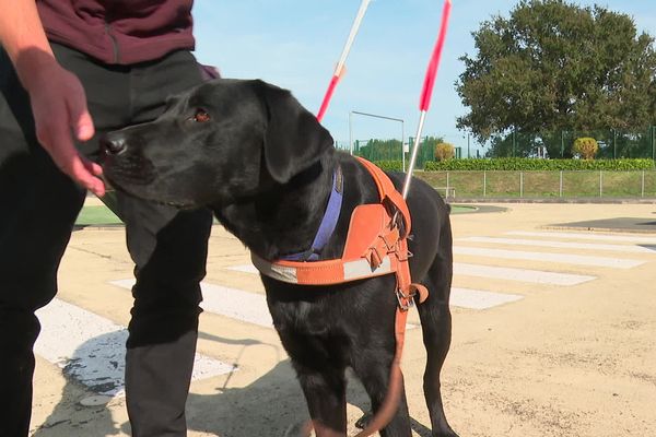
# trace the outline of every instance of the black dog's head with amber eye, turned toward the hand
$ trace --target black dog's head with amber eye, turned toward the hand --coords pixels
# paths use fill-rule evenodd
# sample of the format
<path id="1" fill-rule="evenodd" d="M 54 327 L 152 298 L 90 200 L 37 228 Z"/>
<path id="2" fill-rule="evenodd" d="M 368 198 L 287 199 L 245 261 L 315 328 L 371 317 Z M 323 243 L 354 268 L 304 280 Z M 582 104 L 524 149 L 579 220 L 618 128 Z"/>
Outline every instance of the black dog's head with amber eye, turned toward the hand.
<path id="1" fill-rule="evenodd" d="M 257 194 L 317 163 L 332 138 L 289 91 L 218 79 L 156 120 L 101 139 L 105 177 L 132 196 L 194 208 Z"/>

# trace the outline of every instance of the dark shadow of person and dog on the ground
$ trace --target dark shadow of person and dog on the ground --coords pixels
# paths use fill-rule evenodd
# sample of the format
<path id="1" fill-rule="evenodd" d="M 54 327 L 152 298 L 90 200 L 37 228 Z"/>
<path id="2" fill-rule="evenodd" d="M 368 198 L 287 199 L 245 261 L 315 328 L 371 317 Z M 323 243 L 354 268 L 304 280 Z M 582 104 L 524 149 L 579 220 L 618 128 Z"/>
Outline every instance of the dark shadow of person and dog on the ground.
<path id="1" fill-rule="evenodd" d="M 48 418 L 33 430 L 33 437 L 114 436 L 130 435 L 128 423 L 118 424 L 106 404 L 83 406 L 80 401 L 121 388 L 120 378 L 105 378 L 87 387 L 78 381 L 70 369 L 74 363 L 89 358 L 90 351 L 105 344 L 116 333 L 99 335 L 81 345 L 63 373 L 67 383 L 61 398 Z M 223 344 L 242 344 L 244 347 L 260 345 L 251 339 L 232 340 L 202 334 Z M 73 365 L 70 365 L 70 364 Z M 239 363 L 235 363 L 237 366 Z M 305 400 L 289 359 L 278 363 L 272 369 L 244 388 L 225 387 L 225 377 L 216 380 L 211 394 L 190 393 L 187 402 L 187 422 L 190 432 L 201 432 L 221 437 L 293 436 L 294 429 L 307 418 Z M 230 381 L 230 377 L 227 378 Z M 89 385 L 89 381 L 86 382 Z M 207 390 L 207 388 L 206 388 Z M 368 398 L 362 386 L 351 378 L 348 400 L 351 405 L 365 412 L 370 409 Z M 125 398 L 115 398 L 112 409 L 125 409 Z M 349 424 L 353 427 L 353 424 Z M 412 428 L 421 437 L 430 437 L 431 430 L 412 420 Z"/>

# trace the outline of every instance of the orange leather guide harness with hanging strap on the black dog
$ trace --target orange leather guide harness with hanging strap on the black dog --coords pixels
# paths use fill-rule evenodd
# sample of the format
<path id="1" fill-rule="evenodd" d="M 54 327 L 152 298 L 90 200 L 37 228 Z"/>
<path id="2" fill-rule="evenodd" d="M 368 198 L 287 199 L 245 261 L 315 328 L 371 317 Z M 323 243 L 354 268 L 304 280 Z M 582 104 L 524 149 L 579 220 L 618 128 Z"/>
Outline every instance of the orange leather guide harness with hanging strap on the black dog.
<path id="1" fill-rule="evenodd" d="M 289 260 L 271 262 L 251 252 L 251 260 L 263 275 L 291 284 L 329 285 L 384 274 L 394 273 L 396 275 L 395 293 L 398 299 L 395 321 L 396 353 L 393 375 L 390 375 L 390 389 L 380 410 L 384 409 L 387 398 L 396 397 L 398 399 L 389 400 L 394 405 L 389 406 L 393 410 L 389 417 L 386 418 L 388 422 L 394 416 L 400 399 L 399 386 L 393 390 L 391 382 L 402 381 L 400 361 L 408 309 L 412 306 L 415 295 L 419 296 L 419 303 L 422 303 L 427 298 L 429 291 L 424 285 L 412 283 L 410 279 L 408 259 L 411 253 L 408 251 L 408 235 L 411 221 L 406 200 L 382 169 L 366 160 L 361 157 L 358 160 L 376 182 L 380 203 L 362 204 L 353 210 L 341 258 L 312 262 Z M 394 391 L 396 393 L 393 393 Z M 375 432 L 387 424 L 387 422 L 383 424 L 374 422 L 376 422 L 376 417 L 359 436 L 368 436 L 373 434 L 370 428 L 378 426 L 373 430 Z M 365 432 L 368 434 L 364 434 Z"/>

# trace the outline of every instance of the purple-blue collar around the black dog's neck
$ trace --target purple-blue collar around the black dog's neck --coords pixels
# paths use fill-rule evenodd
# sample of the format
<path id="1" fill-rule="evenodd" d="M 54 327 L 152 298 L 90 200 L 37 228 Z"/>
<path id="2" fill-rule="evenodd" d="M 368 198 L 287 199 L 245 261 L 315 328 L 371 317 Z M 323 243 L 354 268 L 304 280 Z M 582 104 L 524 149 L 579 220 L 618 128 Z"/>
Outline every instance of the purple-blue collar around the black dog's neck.
<path id="1" fill-rule="evenodd" d="M 335 173 L 332 174 L 332 190 L 330 191 L 330 198 L 328 199 L 328 206 L 324 213 L 324 218 L 319 225 L 319 231 L 315 235 L 312 247 L 304 252 L 291 253 L 280 257 L 283 261 L 318 261 L 319 253 L 324 247 L 328 244 L 330 236 L 335 232 L 337 226 L 337 220 L 341 211 L 341 204 L 343 199 L 343 175 L 341 167 L 338 164 Z"/>

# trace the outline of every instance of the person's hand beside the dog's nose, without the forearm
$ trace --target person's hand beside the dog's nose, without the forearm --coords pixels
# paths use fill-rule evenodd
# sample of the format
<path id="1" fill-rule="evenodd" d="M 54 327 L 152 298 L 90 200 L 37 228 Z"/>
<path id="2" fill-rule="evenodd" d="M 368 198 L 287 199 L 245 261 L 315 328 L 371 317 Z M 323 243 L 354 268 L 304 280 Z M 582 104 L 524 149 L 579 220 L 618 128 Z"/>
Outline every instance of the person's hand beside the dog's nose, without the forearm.
<path id="1" fill-rule="evenodd" d="M 105 194 L 102 167 L 82 156 L 73 137 L 89 141 L 94 126 L 80 80 L 54 58 L 23 76 L 30 94 L 36 137 L 55 164 L 96 196 Z"/>

